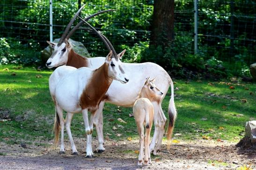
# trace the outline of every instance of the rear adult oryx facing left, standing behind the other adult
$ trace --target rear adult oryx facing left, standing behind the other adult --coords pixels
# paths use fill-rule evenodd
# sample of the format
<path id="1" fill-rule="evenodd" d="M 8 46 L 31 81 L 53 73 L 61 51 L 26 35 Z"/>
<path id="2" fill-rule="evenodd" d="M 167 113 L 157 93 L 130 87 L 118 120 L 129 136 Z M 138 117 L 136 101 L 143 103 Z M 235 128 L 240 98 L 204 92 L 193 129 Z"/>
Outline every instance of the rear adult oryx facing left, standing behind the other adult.
<path id="1" fill-rule="evenodd" d="M 79 27 L 80 26 L 78 25 L 75 26 L 72 29 L 72 31 L 70 31 L 69 36 L 67 36 L 67 38 L 69 38 L 73 34 L 75 29 Z M 93 29 L 92 27 L 90 28 Z M 63 42 L 60 47 L 54 46 L 54 50 L 61 51 L 66 46 L 67 44 Z M 116 53 L 113 47 L 111 47 L 111 50 L 113 51 L 113 53 Z M 82 58 L 80 55 L 74 54 L 73 52 L 70 53 L 70 51 L 71 50 L 66 51 L 66 55 L 63 55 L 62 53 L 60 54 L 58 53 L 59 55 L 52 54 L 51 60 L 54 60 L 54 64 L 52 63 L 51 65 L 48 65 L 48 64 L 46 65 L 48 65 L 48 67 L 49 66 L 57 67 L 59 65 L 69 65 L 75 68 L 80 68 L 81 67 L 81 65 L 79 64 L 80 60 L 90 60 L 90 62 L 88 61 L 83 62 L 84 64 L 83 67 L 97 68 L 100 65 L 102 65 L 102 63 L 104 62 L 103 57 L 80 59 Z M 123 55 L 124 51 L 120 54 Z M 63 59 L 60 60 L 60 58 L 63 58 Z M 168 116 L 169 116 L 168 131 L 167 131 L 168 139 L 170 139 L 171 137 L 171 134 L 174 128 L 174 123 L 176 120 L 176 108 L 174 103 L 174 86 L 173 86 L 172 79 L 161 66 L 151 62 L 122 63 L 122 67 L 126 71 L 126 74 L 128 75 L 128 77 L 131 78 L 129 83 L 122 86 L 120 83 L 113 81 L 105 97 L 102 98 L 102 102 L 100 102 L 99 108 L 95 110 L 96 114 L 95 114 L 94 124 L 97 131 L 98 142 L 99 142 L 99 146 L 97 147 L 96 151 L 100 153 L 105 150 L 105 148 L 103 147 L 103 132 L 102 132 L 103 131 L 102 110 L 104 107 L 104 103 L 109 102 L 118 106 L 132 107 L 134 102 L 139 98 L 139 89 L 142 88 L 147 76 L 150 76 L 150 77 L 157 77 L 157 81 L 155 82 L 155 84 L 163 92 L 163 95 L 161 95 L 161 97 L 157 98 L 157 100 L 152 102 L 152 104 L 154 105 L 154 113 L 155 113 L 154 114 L 155 128 L 154 128 L 154 136 L 150 143 L 150 151 L 153 151 L 153 154 L 156 155 L 157 151 L 161 149 L 162 137 L 164 135 L 165 125 L 167 122 L 167 118 L 165 117 L 163 110 L 161 108 L 161 103 L 168 92 L 169 86 L 171 86 L 171 98 L 168 106 Z M 70 122 L 71 122 L 71 119 L 67 119 L 68 125 L 70 125 Z"/>

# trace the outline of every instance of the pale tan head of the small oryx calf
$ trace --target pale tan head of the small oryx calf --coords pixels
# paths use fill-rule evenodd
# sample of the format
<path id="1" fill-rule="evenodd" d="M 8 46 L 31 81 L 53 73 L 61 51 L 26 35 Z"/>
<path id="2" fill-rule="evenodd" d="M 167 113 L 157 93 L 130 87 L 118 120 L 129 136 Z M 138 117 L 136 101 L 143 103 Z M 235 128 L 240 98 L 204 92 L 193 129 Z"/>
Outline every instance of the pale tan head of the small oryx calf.
<path id="1" fill-rule="evenodd" d="M 159 88 L 157 88 L 154 84 L 155 78 L 150 80 L 150 77 L 146 79 L 146 82 L 144 83 L 140 95 L 142 97 L 159 97 L 159 95 L 163 95 L 163 93 L 160 91 Z"/>

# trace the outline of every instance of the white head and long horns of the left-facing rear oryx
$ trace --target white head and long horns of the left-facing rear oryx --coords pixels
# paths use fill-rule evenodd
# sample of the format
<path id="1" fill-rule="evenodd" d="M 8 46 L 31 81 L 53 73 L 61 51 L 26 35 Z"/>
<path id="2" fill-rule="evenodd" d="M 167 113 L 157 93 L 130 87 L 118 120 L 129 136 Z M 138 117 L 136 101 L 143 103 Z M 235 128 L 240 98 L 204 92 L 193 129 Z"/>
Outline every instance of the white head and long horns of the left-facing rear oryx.
<path id="1" fill-rule="evenodd" d="M 70 22 L 67 25 L 64 33 L 62 34 L 61 38 L 59 39 L 58 43 L 47 41 L 47 43 L 51 45 L 51 48 L 54 49 L 53 53 L 51 54 L 51 57 L 46 62 L 46 66 L 48 68 L 53 68 L 53 67 L 58 67 L 58 66 L 61 66 L 61 65 L 66 65 L 67 60 L 68 60 L 68 54 L 69 54 L 70 50 L 72 49 L 71 44 L 67 40 L 75 32 L 75 30 L 78 29 L 84 22 L 80 21 L 75 27 L 73 27 L 73 29 L 69 33 L 68 33 L 68 31 L 69 31 L 70 27 L 72 26 L 74 20 L 76 19 L 77 15 L 81 12 L 81 10 L 83 9 L 84 6 L 85 5 L 80 7 L 80 9 L 74 15 L 72 20 L 70 20 Z M 90 18 L 92 18 L 96 15 L 99 15 L 99 14 L 102 14 L 102 13 L 105 13 L 105 12 L 109 12 L 109 11 L 114 11 L 114 10 L 109 9 L 109 10 L 105 10 L 105 11 L 100 11 L 98 13 L 95 13 L 95 14 L 92 14 L 92 15 L 86 17 L 84 20 L 89 20 Z"/>

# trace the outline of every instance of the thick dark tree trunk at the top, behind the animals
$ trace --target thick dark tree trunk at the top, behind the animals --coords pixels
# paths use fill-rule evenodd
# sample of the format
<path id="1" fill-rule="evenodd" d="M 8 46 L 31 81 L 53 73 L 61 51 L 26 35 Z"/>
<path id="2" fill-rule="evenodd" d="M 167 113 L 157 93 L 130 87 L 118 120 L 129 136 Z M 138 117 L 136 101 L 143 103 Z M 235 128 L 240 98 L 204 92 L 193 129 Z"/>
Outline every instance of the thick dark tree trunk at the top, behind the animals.
<path id="1" fill-rule="evenodd" d="M 174 39 L 174 0 L 154 0 L 150 45 L 163 47 Z"/>

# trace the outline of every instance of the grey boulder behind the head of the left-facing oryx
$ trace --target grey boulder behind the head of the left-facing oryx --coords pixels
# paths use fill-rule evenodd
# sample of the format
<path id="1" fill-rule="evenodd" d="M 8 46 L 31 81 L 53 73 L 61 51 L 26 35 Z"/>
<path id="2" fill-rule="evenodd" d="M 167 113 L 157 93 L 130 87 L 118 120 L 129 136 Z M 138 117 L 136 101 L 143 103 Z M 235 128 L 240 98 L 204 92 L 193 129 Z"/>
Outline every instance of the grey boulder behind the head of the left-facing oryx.
<path id="1" fill-rule="evenodd" d="M 59 39 L 55 39 L 53 42 L 58 43 Z M 88 50 L 84 47 L 84 45 L 79 41 L 73 41 L 72 39 L 69 39 L 69 42 L 72 44 L 73 50 L 84 56 L 84 57 L 90 57 L 90 54 L 88 53 Z M 53 48 L 50 47 L 50 45 L 47 48 L 44 48 L 43 51 L 41 51 L 41 59 L 42 64 L 45 65 L 48 58 L 51 56 L 53 52 Z"/>

